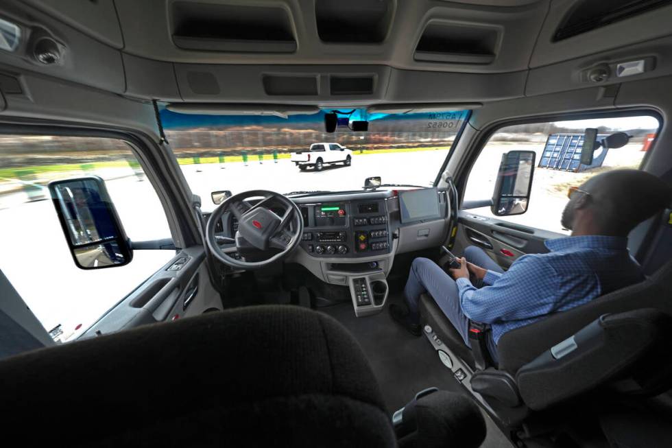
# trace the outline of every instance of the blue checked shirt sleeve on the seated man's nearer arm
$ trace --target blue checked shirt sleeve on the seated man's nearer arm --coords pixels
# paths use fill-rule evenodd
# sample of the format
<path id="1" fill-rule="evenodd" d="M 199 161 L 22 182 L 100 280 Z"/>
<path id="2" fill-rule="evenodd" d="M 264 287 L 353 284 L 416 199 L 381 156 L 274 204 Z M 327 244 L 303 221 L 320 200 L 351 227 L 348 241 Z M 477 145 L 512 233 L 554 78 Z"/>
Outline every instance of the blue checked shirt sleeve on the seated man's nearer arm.
<path id="1" fill-rule="evenodd" d="M 457 290 L 462 311 L 475 322 L 527 319 L 553 311 L 557 273 L 547 261 L 527 255 L 492 285 L 479 290 L 468 279 L 458 279 Z"/>

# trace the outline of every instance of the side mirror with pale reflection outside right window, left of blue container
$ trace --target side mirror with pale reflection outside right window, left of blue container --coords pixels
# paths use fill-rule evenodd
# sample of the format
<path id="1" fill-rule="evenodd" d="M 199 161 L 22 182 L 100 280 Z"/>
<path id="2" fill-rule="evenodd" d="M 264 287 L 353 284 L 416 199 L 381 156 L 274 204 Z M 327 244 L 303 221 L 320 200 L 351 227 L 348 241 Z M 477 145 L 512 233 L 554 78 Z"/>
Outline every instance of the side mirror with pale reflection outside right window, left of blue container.
<path id="1" fill-rule="evenodd" d="M 493 215 L 522 215 L 527 211 L 535 156 L 533 151 L 509 151 L 502 155 L 490 207 Z"/>

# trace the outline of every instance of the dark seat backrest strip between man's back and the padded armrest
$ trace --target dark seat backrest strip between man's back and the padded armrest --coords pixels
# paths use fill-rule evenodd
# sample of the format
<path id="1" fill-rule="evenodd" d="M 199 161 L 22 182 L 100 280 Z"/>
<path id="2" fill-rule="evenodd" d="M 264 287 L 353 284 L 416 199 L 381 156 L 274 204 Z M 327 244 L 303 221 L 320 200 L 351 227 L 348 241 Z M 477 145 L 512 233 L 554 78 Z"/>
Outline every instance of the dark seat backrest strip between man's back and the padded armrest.
<path id="1" fill-rule="evenodd" d="M 640 308 L 654 308 L 672 315 L 672 260 L 641 283 L 508 331 L 497 344 L 499 368 L 515 375 L 520 367 L 547 351 L 549 347 L 566 340 L 599 316 Z"/>

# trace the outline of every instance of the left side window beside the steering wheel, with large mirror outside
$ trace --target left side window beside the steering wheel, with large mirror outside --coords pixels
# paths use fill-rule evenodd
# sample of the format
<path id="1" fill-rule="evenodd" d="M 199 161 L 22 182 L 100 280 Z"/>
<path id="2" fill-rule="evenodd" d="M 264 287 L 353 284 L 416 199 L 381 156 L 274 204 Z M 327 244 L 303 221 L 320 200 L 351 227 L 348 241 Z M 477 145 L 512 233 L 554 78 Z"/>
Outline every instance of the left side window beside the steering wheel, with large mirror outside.
<path id="1" fill-rule="evenodd" d="M 99 176 L 132 241 L 170 237 L 130 145 L 117 139 L 0 135 L 0 269 L 52 338 L 80 335 L 160 269 L 174 250 L 135 250 L 114 269 L 75 266 L 47 184 Z"/>

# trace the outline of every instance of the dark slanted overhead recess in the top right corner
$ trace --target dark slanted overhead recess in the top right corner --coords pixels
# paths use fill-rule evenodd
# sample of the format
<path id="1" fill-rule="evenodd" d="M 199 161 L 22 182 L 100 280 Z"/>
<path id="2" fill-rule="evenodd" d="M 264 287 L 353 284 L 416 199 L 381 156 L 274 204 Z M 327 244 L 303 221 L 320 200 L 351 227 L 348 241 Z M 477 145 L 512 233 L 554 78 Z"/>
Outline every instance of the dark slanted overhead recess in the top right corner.
<path id="1" fill-rule="evenodd" d="M 670 0 L 583 0 L 577 2 L 557 27 L 553 41 L 578 36 L 672 3 Z"/>

